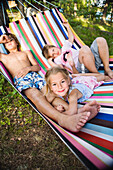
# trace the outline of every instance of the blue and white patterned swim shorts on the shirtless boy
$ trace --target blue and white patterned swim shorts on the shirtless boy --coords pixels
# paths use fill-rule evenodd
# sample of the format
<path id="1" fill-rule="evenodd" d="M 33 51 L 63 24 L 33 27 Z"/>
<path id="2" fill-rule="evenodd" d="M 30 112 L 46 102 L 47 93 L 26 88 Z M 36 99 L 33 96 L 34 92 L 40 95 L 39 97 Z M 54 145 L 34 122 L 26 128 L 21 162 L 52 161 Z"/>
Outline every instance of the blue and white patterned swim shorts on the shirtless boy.
<path id="1" fill-rule="evenodd" d="M 41 90 L 45 86 L 45 84 L 46 82 L 44 78 L 36 72 L 29 72 L 23 78 L 14 78 L 14 85 L 20 92 L 28 88 L 37 88 L 38 90 Z"/>

